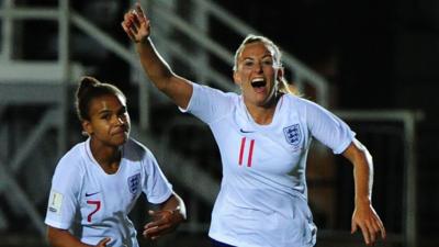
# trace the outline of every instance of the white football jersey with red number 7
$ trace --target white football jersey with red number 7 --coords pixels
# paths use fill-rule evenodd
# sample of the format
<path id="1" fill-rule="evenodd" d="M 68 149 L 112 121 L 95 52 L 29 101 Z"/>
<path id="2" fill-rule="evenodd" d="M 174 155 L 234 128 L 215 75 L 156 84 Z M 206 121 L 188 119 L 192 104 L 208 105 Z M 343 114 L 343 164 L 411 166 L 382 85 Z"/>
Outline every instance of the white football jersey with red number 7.
<path id="1" fill-rule="evenodd" d="M 127 214 L 140 193 L 162 203 L 172 193 L 153 154 L 136 141 L 123 146 L 119 170 L 108 175 L 94 160 L 90 138 L 77 144 L 58 162 L 45 223 L 69 229 L 82 243 L 137 247 L 136 229 Z"/>

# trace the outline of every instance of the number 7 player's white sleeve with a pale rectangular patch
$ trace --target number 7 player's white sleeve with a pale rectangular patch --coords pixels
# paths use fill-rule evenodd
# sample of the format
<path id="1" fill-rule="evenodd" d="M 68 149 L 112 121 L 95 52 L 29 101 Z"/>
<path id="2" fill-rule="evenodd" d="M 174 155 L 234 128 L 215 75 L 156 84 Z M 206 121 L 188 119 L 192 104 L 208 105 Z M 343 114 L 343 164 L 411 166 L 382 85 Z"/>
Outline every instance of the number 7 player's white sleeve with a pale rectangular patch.
<path id="1" fill-rule="evenodd" d="M 49 226 L 67 229 L 74 223 L 82 181 L 76 165 L 74 160 L 64 157 L 55 169 L 45 218 Z"/>

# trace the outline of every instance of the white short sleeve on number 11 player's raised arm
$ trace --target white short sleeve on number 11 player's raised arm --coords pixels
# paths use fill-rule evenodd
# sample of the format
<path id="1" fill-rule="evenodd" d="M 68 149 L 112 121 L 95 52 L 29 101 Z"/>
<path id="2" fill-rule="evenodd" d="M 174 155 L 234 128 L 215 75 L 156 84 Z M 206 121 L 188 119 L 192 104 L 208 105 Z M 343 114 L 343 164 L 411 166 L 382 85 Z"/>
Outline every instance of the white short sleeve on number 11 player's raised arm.
<path id="1" fill-rule="evenodd" d="M 211 124 L 233 108 L 233 97 L 235 93 L 225 93 L 207 86 L 192 83 L 193 92 L 188 108 L 179 108 L 182 112 L 189 112 L 199 117 L 204 123 Z"/>

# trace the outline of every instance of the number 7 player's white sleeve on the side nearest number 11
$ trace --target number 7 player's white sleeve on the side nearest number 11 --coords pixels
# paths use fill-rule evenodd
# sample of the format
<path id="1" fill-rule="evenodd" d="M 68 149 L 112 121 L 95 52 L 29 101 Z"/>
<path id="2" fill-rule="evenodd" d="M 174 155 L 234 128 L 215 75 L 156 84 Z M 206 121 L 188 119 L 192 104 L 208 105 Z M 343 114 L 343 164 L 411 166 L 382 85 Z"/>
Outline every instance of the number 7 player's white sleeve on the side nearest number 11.
<path id="1" fill-rule="evenodd" d="M 146 150 L 143 166 L 146 173 L 143 192 L 146 194 L 148 202 L 159 204 L 168 200 L 172 194 L 172 186 L 166 179 L 156 158 L 149 150 Z"/>

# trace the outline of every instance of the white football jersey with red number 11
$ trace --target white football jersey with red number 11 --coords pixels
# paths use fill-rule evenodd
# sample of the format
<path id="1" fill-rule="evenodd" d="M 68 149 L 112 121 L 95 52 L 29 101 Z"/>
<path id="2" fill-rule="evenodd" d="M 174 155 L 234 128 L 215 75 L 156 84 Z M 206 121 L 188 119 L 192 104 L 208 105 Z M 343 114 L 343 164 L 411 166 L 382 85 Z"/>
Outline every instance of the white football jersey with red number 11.
<path id="1" fill-rule="evenodd" d="M 188 109 L 181 110 L 209 124 L 223 164 L 210 237 L 239 247 L 313 246 L 316 226 L 305 180 L 311 141 L 340 154 L 354 133 L 322 106 L 291 94 L 281 97 L 270 124 L 259 125 L 241 96 L 192 85 Z"/>

